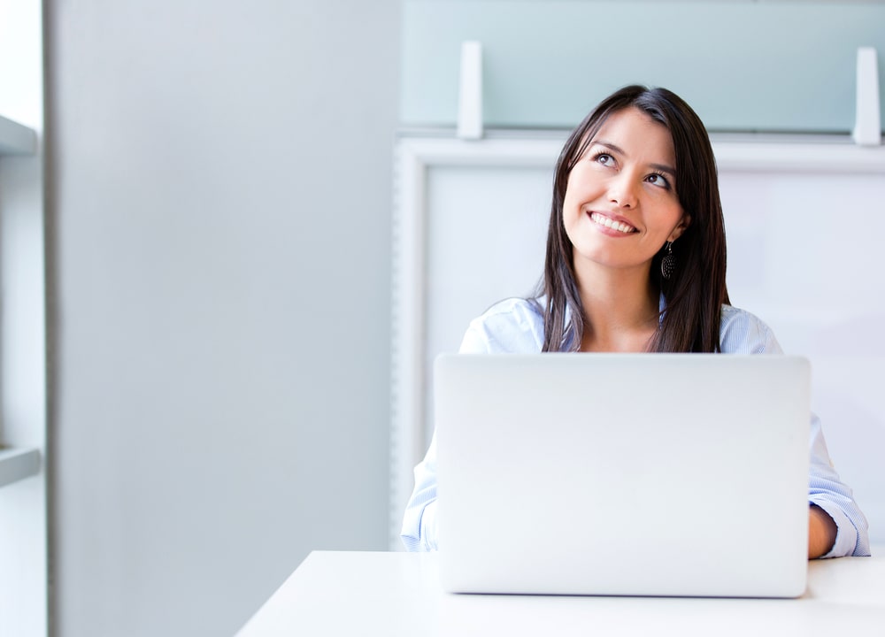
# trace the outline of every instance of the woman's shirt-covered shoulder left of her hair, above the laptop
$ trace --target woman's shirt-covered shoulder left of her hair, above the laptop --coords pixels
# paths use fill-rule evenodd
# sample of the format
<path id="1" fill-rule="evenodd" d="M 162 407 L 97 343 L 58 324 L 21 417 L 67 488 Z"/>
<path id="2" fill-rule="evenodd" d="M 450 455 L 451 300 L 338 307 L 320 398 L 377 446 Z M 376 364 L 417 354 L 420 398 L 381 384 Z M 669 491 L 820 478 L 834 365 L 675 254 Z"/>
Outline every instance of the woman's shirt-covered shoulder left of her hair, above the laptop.
<path id="1" fill-rule="evenodd" d="M 543 306 L 538 299 L 507 298 L 470 322 L 462 353 L 533 353 L 544 337 Z"/>

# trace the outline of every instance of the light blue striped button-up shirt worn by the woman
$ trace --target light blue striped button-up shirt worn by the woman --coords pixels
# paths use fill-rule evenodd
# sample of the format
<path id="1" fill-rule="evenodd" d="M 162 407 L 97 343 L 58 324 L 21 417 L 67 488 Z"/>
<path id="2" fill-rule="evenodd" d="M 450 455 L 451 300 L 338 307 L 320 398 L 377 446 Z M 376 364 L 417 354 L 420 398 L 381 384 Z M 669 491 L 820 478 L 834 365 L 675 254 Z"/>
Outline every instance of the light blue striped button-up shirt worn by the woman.
<path id="1" fill-rule="evenodd" d="M 461 343 L 461 353 L 529 354 L 543 347 L 543 313 L 526 299 L 497 303 L 473 319 Z M 782 354 L 771 329 L 750 312 L 722 306 L 720 347 L 726 354 Z M 838 528 L 833 548 L 824 557 L 868 556 L 869 536 L 864 514 L 851 489 L 839 479 L 827 452 L 820 419 L 812 415 L 811 472 L 808 500 L 827 511 Z M 427 456 L 415 467 L 415 490 L 405 509 L 402 539 L 412 551 L 436 549 L 436 436 Z"/>

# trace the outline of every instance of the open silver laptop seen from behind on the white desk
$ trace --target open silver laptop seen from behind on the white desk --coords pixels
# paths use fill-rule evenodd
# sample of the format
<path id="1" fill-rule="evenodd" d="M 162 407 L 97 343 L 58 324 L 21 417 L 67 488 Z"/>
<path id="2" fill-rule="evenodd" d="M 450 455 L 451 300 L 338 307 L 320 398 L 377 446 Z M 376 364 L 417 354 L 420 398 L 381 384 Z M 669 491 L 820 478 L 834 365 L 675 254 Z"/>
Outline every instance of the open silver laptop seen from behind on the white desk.
<path id="1" fill-rule="evenodd" d="M 443 355 L 434 381 L 444 590 L 804 593 L 806 359 Z"/>

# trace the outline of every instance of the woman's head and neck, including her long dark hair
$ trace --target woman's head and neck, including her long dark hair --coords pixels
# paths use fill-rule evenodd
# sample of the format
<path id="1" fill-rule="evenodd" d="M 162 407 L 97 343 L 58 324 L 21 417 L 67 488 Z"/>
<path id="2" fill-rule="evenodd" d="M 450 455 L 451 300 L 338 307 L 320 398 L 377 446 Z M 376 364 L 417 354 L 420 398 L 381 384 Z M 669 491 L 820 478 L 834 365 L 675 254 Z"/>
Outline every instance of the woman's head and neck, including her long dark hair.
<path id="1" fill-rule="evenodd" d="M 612 242 L 611 227 L 593 216 L 636 232 L 627 246 Z M 592 232 L 581 234 L 585 218 Z M 562 351 L 566 338 L 568 350 L 720 351 L 724 228 L 712 147 L 689 105 L 664 88 L 627 87 L 606 98 L 574 129 L 557 164 L 539 290 L 548 298 L 543 351 Z M 591 246 L 606 260 L 588 258 Z M 662 276 L 665 254 L 681 276 Z M 598 298 L 605 290 L 617 298 Z M 658 317 L 660 295 L 667 311 Z M 587 312 L 612 313 L 594 320 Z M 626 329 L 605 327 L 614 323 Z"/>

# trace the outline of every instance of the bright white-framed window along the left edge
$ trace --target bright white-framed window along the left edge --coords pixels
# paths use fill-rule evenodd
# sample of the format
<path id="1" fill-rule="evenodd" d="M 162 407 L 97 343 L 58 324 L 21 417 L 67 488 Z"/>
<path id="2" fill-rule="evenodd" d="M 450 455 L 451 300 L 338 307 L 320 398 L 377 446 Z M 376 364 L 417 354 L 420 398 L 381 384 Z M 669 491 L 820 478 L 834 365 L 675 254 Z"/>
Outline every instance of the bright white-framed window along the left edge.
<path id="1" fill-rule="evenodd" d="M 0 0 L 0 634 L 49 633 L 40 0 Z"/>

